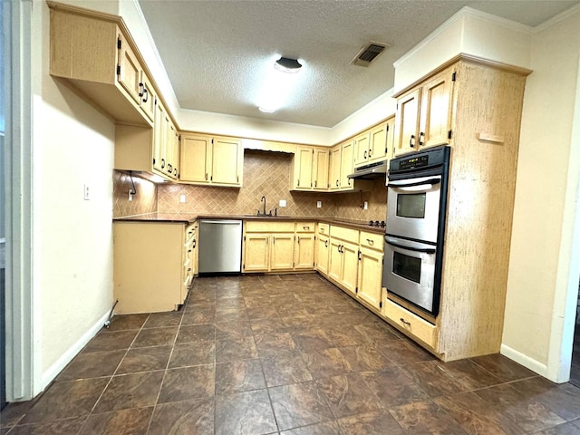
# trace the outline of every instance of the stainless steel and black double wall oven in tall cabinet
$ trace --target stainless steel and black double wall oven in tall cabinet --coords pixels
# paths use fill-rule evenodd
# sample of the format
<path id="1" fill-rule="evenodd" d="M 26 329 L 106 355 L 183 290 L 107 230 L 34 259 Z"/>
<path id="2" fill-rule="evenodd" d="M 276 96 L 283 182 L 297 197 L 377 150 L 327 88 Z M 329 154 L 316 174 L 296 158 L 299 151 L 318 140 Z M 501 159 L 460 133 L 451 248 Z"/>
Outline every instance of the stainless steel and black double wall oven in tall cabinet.
<path id="1" fill-rule="evenodd" d="M 439 314 L 449 147 L 391 160 L 382 285 L 391 299 Z"/>

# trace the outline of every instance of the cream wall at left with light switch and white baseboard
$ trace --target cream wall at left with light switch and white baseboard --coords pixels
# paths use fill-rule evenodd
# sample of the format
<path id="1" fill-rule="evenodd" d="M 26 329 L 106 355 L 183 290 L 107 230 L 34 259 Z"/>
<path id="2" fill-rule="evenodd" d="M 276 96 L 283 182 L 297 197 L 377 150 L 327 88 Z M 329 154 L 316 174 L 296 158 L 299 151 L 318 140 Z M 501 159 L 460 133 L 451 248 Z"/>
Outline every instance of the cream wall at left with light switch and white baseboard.
<path id="1" fill-rule="evenodd" d="M 102 5 L 111 7 L 111 2 Z M 92 338 L 111 310 L 114 124 L 49 75 L 49 10 L 44 2 L 34 4 L 33 29 L 38 392 Z M 84 184 L 90 188 L 88 201 L 83 199 Z"/>

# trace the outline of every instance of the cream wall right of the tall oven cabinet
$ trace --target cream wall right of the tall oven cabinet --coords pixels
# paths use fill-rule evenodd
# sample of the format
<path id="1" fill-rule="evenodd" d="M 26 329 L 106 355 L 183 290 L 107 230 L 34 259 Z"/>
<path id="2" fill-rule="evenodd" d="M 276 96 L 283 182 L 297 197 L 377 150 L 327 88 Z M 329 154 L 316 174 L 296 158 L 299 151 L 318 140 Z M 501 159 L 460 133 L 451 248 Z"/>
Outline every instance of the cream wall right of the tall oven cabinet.
<path id="1" fill-rule="evenodd" d="M 580 153 L 572 152 L 580 146 L 572 137 L 580 122 L 580 9 L 574 11 L 532 38 L 502 346 L 502 353 L 556 382 L 566 380 L 562 364 L 569 367 L 558 355 L 570 321 L 565 300 L 578 285 L 578 258 L 571 262 L 580 178 Z"/>

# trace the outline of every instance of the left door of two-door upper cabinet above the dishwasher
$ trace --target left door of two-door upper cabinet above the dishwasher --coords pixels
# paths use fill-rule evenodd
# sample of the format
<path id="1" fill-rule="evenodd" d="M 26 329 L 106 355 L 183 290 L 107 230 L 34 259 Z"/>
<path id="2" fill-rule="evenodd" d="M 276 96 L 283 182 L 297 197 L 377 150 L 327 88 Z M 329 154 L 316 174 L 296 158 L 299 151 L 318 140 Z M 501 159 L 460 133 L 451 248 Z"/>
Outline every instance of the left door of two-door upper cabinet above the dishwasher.
<path id="1" fill-rule="evenodd" d="M 211 138 L 191 134 L 181 135 L 180 179 L 192 183 L 209 182 Z"/>

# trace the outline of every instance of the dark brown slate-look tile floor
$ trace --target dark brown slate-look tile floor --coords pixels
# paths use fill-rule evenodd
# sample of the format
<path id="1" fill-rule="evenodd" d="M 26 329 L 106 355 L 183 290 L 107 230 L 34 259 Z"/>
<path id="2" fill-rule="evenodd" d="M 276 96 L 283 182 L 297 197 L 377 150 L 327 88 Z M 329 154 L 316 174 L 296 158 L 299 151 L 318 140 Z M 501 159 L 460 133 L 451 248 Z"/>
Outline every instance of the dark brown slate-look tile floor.
<path id="1" fill-rule="evenodd" d="M 318 275 L 199 278 L 1 417 L 1 435 L 567 435 L 580 389 L 498 354 L 435 360 Z"/>

